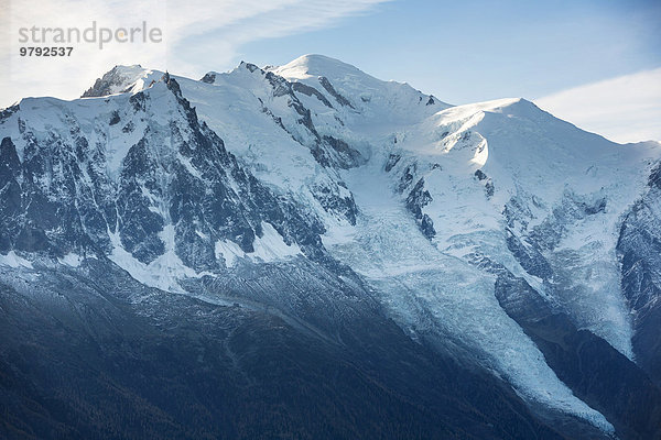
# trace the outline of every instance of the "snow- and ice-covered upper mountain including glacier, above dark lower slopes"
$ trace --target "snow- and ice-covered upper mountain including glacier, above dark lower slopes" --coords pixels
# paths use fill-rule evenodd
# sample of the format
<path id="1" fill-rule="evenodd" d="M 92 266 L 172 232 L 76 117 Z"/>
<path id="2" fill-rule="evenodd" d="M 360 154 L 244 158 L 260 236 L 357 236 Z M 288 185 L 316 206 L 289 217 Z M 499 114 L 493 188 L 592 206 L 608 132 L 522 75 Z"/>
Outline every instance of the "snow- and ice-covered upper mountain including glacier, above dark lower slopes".
<path id="1" fill-rule="evenodd" d="M 618 252 L 660 266 L 637 235 L 658 223 L 659 143 L 619 145 L 521 98 L 453 107 L 322 55 L 198 80 L 116 66 L 84 98 L 0 111 L 0 266 L 96 255 L 191 295 L 264 267 L 353 274 L 414 338 L 611 430 L 534 326 L 644 354 L 622 292 L 647 275 Z"/>

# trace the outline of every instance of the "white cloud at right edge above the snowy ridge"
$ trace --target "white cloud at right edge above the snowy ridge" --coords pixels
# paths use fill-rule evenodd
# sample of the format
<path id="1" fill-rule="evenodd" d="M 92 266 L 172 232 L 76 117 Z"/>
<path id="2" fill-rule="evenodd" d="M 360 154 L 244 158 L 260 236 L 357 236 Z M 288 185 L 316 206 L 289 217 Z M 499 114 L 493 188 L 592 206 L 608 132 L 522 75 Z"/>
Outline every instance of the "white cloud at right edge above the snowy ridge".
<path id="1" fill-rule="evenodd" d="M 535 102 L 616 142 L 661 141 L 661 68 L 575 87 Z"/>

